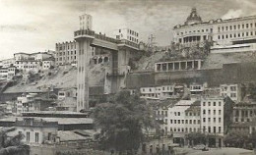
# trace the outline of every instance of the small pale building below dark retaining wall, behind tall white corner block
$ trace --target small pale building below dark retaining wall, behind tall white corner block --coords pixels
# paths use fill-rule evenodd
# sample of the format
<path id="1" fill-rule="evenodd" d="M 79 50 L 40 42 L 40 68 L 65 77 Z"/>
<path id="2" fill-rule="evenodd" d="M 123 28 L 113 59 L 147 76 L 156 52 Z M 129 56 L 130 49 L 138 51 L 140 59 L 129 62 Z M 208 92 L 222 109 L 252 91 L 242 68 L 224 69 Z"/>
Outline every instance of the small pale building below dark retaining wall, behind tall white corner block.
<path id="1" fill-rule="evenodd" d="M 240 84 L 221 84 L 221 96 L 230 97 L 233 101 L 241 101 L 241 85 Z"/>

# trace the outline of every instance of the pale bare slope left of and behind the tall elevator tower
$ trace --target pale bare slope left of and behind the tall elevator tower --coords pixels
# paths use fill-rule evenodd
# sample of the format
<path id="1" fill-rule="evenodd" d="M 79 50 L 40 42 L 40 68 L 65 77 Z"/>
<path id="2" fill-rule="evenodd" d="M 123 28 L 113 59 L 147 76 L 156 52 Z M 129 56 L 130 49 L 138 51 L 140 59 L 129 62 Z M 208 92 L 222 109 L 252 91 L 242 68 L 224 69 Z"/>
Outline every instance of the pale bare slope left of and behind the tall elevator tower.
<path id="1" fill-rule="evenodd" d="M 101 65 L 96 65 L 90 68 L 89 82 L 90 85 L 102 85 L 104 82 L 105 69 Z M 60 66 L 56 69 L 40 72 L 34 75 L 35 79 L 29 83 L 23 83 L 18 80 L 18 83 L 8 87 L 5 93 L 15 92 L 41 92 L 46 91 L 48 87 L 74 87 L 77 84 L 77 68 L 72 66 Z"/>

